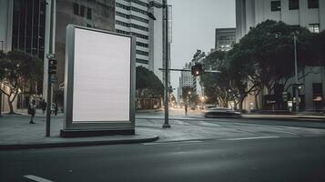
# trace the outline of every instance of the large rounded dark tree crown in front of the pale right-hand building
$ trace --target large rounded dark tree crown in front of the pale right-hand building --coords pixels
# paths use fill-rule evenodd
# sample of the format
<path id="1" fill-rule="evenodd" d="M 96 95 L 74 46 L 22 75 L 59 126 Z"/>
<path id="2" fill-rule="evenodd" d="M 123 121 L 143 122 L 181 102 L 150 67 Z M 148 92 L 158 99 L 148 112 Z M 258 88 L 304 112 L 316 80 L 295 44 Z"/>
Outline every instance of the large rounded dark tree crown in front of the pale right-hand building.
<path id="1" fill-rule="evenodd" d="M 239 51 L 255 69 L 255 73 L 249 76 L 252 82 L 265 86 L 270 92 L 274 86 L 284 85 L 293 76 L 293 34 L 298 36 L 300 44 L 310 36 L 306 28 L 267 20 L 251 28 L 249 34 L 240 40 Z M 300 53 L 304 52 L 301 49 Z M 303 57 L 300 56 L 300 59 Z"/>

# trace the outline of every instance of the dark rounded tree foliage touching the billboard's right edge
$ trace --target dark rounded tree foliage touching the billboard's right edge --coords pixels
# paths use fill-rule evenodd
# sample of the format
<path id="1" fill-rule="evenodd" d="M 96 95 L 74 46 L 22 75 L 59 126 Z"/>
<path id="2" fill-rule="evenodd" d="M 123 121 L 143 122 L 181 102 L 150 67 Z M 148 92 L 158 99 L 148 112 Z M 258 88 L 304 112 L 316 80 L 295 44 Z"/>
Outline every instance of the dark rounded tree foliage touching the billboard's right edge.
<path id="1" fill-rule="evenodd" d="M 149 71 L 143 66 L 137 66 L 136 72 L 136 89 L 138 96 L 163 96 L 164 86 L 152 71 Z"/>

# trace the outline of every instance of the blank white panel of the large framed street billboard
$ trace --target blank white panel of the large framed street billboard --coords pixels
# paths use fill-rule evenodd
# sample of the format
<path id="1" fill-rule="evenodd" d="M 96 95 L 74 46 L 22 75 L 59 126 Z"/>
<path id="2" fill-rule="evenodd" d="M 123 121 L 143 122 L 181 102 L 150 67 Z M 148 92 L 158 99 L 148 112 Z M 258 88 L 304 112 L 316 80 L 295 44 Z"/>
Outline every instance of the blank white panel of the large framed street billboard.
<path id="1" fill-rule="evenodd" d="M 75 29 L 73 122 L 128 121 L 131 37 Z"/>

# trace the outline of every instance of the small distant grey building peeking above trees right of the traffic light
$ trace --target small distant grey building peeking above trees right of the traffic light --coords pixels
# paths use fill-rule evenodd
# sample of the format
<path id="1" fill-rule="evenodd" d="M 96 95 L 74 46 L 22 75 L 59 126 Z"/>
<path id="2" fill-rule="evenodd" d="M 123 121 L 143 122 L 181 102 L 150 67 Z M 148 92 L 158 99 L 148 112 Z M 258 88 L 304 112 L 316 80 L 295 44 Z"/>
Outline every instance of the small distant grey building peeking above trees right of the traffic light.
<path id="1" fill-rule="evenodd" d="M 217 51 L 229 51 L 236 43 L 236 28 L 216 28 Z"/>

